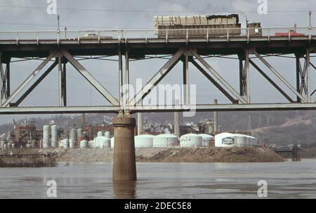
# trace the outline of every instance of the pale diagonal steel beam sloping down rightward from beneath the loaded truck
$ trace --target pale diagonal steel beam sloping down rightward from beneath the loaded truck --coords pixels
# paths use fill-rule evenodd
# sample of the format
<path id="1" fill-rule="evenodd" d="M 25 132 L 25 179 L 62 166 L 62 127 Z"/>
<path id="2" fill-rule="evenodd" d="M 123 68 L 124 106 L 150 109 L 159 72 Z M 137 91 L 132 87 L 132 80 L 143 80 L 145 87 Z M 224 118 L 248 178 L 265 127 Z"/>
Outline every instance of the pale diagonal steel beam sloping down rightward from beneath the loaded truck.
<path id="1" fill-rule="evenodd" d="M 241 103 L 247 103 L 247 101 L 242 96 L 240 96 L 239 93 L 230 84 L 228 84 L 228 82 L 226 82 L 226 80 L 221 77 L 218 72 L 213 69 L 213 67 L 209 65 L 209 63 L 199 56 L 196 51 L 191 51 L 191 53 L 193 56 L 195 56 L 195 58 L 197 58 L 197 60 L 199 60 L 200 63 L 202 63 L 202 65 L 204 65 L 204 67 L 206 67 L 207 70 L 209 70 L 209 72 L 211 72 L 211 74 L 213 74 L 217 82 L 222 83 L 223 86 L 225 86 L 225 88 L 228 89 L 228 91 L 230 91 L 238 99 L 238 101 Z"/>

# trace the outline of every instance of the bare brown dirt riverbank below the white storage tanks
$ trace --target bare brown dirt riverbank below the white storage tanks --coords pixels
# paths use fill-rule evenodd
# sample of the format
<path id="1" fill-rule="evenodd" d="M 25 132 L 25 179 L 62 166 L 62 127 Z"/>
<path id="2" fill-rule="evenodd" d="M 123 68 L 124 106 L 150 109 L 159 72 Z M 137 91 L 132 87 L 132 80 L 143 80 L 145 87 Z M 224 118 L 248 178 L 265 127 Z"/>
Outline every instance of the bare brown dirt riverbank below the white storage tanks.
<path id="1" fill-rule="evenodd" d="M 55 153 L 59 162 L 112 162 L 112 149 L 77 148 L 63 150 L 20 150 L 13 153 Z M 284 159 L 269 148 L 137 148 L 138 162 L 283 162 Z"/>

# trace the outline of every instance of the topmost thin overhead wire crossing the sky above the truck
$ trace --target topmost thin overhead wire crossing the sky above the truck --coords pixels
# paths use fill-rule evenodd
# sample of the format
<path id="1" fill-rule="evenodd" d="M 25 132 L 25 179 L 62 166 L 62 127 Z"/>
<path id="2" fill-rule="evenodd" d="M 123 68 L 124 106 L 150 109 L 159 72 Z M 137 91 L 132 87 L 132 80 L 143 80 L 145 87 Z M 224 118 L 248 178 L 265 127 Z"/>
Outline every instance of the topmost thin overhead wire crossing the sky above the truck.
<path id="1" fill-rule="evenodd" d="M 0 5 L 0 8 L 23 8 L 23 9 L 45 9 L 41 6 L 10 6 Z M 58 11 L 101 11 L 101 12 L 120 12 L 120 13 L 258 13 L 258 11 L 145 11 L 145 10 L 122 10 L 112 8 L 58 8 Z M 310 10 L 308 10 L 310 11 Z M 297 11 L 268 11 L 268 13 L 308 13 L 305 10 Z M 315 12 L 316 10 L 312 10 Z"/>

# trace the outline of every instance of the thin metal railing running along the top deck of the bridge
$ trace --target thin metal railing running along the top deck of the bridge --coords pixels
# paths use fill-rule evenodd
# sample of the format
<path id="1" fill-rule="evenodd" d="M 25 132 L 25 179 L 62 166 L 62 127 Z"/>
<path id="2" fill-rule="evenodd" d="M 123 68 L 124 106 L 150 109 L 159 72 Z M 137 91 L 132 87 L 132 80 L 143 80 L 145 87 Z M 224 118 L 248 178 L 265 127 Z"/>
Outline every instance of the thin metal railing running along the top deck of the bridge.
<path id="1" fill-rule="evenodd" d="M 255 38 L 255 37 L 311 37 L 316 36 L 313 27 L 277 28 L 196 28 L 196 29 L 159 29 L 159 30 L 55 30 L 46 31 L 0 31 L 0 40 L 104 40 L 104 39 L 206 39 L 211 38 Z"/>

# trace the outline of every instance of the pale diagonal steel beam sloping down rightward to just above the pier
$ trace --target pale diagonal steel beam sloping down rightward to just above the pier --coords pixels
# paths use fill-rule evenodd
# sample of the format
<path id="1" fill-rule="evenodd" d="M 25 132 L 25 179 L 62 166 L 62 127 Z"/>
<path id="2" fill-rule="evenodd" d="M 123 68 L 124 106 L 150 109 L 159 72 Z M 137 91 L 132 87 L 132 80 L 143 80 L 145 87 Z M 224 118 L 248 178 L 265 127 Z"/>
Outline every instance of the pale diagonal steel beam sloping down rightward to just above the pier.
<path id="1" fill-rule="evenodd" d="M 62 51 L 62 55 L 67 58 L 67 60 L 74 66 L 74 68 L 94 87 L 98 92 L 103 95 L 107 101 L 112 103 L 112 105 L 119 105 L 119 101 L 117 101 L 114 96 L 111 95 L 109 91 L 107 91 L 100 82 L 98 82 L 70 53 L 67 51 Z"/>

